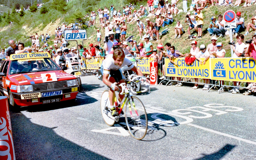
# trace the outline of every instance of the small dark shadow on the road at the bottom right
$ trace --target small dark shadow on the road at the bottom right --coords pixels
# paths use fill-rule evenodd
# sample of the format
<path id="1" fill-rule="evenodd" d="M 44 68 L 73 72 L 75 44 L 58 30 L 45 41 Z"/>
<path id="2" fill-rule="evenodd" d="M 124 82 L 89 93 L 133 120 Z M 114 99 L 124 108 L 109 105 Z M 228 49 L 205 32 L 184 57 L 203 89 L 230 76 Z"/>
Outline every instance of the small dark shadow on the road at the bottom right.
<path id="1" fill-rule="evenodd" d="M 195 160 L 219 160 L 223 158 L 223 156 L 225 156 L 228 152 L 230 152 L 234 147 L 236 147 L 236 145 L 227 144 L 221 150 L 212 154 L 202 154 L 202 158 L 198 158 Z"/>

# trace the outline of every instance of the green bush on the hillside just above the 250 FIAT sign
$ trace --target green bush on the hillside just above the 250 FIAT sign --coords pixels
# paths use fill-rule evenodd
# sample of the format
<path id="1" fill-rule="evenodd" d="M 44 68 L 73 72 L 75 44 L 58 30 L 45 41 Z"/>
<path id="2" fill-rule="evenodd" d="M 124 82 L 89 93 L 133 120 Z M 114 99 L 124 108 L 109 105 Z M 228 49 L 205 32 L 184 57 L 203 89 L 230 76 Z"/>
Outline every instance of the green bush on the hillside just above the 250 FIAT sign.
<path id="1" fill-rule="evenodd" d="M 89 18 L 88 18 L 89 19 Z M 68 19 L 69 23 L 78 23 L 81 28 L 87 28 L 86 22 L 88 19 L 85 19 L 83 13 L 80 11 L 75 11 L 70 18 Z"/>

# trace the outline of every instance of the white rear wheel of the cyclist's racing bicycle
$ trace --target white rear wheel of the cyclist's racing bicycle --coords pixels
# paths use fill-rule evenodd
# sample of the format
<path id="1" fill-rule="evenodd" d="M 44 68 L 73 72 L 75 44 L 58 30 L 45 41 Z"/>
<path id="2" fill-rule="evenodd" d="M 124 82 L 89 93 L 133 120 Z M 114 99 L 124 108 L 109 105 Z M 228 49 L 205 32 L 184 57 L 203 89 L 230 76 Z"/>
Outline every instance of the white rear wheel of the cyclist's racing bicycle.
<path id="1" fill-rule="evenodd" d="M 109 104 L 109 97 L 108 97 L 108 90 L 105 90 L 100 99 L 100 110 L 105 123 L 109 126 L 115 124 L 115 117 L 111 116 L 111 110 L 108 108 Z"/>

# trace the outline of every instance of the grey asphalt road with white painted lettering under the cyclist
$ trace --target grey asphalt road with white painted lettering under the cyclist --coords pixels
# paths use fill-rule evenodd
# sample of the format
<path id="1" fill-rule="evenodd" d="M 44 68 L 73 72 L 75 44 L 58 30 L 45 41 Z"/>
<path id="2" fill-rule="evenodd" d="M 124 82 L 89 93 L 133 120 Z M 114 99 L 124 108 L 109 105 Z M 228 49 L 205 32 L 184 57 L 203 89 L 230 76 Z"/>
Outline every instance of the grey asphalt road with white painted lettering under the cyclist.
<path id="1" fill-rule="evenodd" d="M 150 94 L 137 97 L 154 130 L 135 140 L 124 118 L 114 127 L 102 119 L 102 81 L 91 75 L 82 84 L 74 104 L 11 110 L 17 160 L 256 159 L 256 96 L 151 86 Z"/>

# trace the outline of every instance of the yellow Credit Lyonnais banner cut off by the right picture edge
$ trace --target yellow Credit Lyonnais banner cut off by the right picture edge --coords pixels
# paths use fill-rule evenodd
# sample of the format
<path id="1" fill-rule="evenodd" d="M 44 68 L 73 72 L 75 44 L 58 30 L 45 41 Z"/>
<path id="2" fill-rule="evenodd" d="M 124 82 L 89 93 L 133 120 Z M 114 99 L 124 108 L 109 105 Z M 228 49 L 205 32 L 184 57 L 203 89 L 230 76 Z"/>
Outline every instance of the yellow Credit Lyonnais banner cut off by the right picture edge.
<path id="1" fill-rule="evenodd" d="M 256 82 L 256 60 L 252 58 L 211 59 L 211 79 Z"/>

